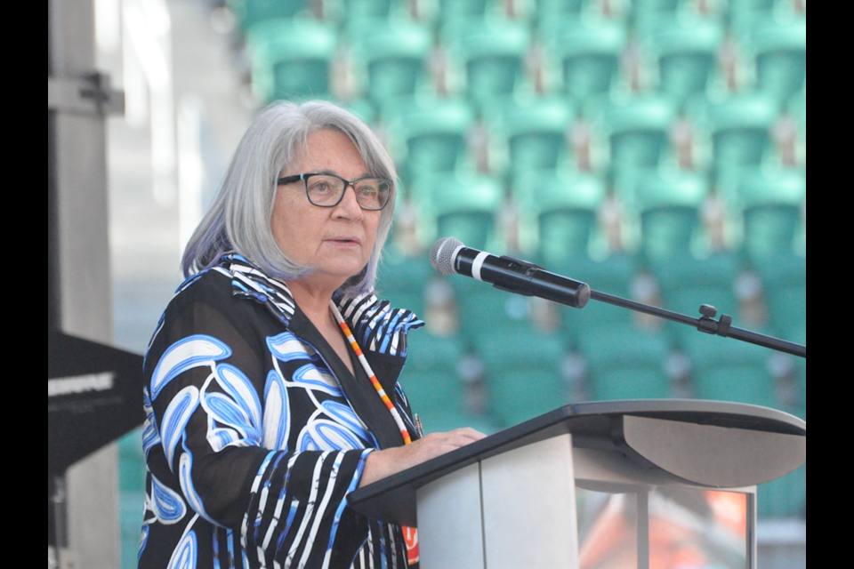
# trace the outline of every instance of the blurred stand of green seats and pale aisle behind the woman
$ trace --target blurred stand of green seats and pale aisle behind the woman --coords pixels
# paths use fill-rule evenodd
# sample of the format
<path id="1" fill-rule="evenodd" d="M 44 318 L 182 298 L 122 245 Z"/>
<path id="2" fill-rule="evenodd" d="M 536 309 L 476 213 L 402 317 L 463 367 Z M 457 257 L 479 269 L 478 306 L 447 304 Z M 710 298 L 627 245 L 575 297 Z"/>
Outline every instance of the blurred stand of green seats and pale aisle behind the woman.
<path id="1" fill-rule="evenodd" d="M 573 402 L 704 398 L 806 419 L 805 360 L 591 302 L 440 277 L 442 236 L 806 343 L 806 0 L 95 0 L 115 344 L 144 353 L 252 117 L 334 100 L 401 198 L 381 297 L 427 322 L 401 383 L 428 431 Z M 118 446 L 121 566 L 145 465 Z M 806 565 L 806 469 L 762 486 L 760 567 Z"/>

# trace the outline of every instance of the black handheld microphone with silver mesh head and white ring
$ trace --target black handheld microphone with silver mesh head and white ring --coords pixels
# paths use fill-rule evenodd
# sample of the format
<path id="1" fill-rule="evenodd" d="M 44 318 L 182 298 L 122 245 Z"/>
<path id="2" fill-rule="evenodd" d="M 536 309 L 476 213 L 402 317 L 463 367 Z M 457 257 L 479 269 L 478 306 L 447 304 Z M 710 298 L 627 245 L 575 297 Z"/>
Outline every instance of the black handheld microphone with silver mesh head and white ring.
<path id="1" fill-rule="evenodd" d="M 524 260 L 471 249 L 454 237 L 443 237 L 433 244 L 430 262 L 442 275 L 471 276 L 509 293 L 536 296 L 575 309 L 583 309 L 590 301 L 587 284 L 555 275 Z"/>

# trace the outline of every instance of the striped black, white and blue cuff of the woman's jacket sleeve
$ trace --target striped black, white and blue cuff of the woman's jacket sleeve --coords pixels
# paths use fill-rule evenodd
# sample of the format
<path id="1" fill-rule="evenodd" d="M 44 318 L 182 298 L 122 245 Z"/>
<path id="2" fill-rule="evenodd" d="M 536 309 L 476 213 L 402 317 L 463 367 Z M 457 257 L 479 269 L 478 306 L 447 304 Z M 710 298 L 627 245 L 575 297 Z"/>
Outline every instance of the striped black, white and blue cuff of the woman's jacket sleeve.
<path id="1" fill-rule="evenodd" d="M 242 528 L 250 564 L 326 569 L 353 559 L 362 545 L 353 538 L 366 533 L 367 522 L 346 508 L 346 496 L 370 452 L 270 453 Z"/>

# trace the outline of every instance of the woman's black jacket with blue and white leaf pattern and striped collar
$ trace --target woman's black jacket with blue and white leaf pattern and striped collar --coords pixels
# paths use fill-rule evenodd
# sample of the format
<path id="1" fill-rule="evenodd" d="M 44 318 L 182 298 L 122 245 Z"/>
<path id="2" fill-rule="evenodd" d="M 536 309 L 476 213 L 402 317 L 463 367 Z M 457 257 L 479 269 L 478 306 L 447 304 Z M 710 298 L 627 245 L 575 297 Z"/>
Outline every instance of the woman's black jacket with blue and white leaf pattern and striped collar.
<path id="1" fill-rule="evenodd" d="M 397 379 L 423 325 L 373 294 L 336 301 L 411 433 Z M 286 284 L 232 255 L 181 286 L 146 357 L 140 567 L 407 567 L 401 528 L 347 507 L 368 453 L 403 445 Z"/>

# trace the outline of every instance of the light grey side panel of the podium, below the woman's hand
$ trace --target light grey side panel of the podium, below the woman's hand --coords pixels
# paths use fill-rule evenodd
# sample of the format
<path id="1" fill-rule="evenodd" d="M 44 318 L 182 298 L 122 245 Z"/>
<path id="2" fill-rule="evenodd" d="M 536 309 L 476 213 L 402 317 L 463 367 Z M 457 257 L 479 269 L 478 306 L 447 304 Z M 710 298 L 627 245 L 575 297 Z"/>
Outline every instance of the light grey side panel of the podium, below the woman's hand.
<path id="1" fill-rule="evenodd" d="M 480 461 L 417 496 L 422 569 L 577 569 L 570 435 Z"/>

